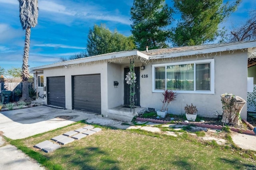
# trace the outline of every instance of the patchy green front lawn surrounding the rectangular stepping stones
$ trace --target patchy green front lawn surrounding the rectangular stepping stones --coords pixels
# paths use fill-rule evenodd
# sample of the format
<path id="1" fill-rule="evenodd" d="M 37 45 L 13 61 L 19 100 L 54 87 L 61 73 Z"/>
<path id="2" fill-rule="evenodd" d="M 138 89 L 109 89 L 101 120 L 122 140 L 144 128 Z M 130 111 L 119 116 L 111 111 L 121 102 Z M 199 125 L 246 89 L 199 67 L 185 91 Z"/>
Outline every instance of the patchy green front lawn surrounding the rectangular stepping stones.
<path id="1" fill-rule="evenodd" d="M 254 168 L 256 152 L 247 152 L 218 146 L 216 142 L 200 143 L 184 132 L 178 137 L 152 133 L 139 129 L 119 130 L 101 127 L 102 131 L 66 144 L 51 153 L 36 150 L 33 146 L 50 140 L 68 130 L 84 127 L 83 121 L 64 128 L 38 134 L 21 140 L 8 141 L 20 150 L 52 170 L 95 169 L 246 169 Z M 197 134 L 203 136 L 203 132 Z M 244 153 L 243 155 L 239 154 Z"/>

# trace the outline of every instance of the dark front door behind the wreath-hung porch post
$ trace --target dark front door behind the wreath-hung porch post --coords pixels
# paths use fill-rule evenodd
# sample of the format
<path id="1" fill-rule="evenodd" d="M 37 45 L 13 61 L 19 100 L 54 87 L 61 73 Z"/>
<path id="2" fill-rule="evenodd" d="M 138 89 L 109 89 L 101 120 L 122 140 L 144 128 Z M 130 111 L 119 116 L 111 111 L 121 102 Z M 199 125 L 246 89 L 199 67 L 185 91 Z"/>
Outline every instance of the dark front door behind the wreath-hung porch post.
<path id="1" fill-rule="evenodd" d="M 124 105 L 130 105 L 130 85 L 125 81 L 129 71 L 129 68 L 124 68 Z M 136 74 L 134 102 L 135 106 L 140 106 L 140 67 L 134 67 L 134 72 Z"/>

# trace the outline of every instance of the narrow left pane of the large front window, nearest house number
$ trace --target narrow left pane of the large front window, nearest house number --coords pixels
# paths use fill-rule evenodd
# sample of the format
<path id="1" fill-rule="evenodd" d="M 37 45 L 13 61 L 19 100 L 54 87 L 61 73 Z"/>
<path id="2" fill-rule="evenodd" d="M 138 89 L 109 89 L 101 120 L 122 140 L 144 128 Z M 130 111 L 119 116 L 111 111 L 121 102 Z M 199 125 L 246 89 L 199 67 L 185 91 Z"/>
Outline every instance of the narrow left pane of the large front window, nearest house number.
<path id="1" fill-rule="evenodd" d="M 165 67 L 155 67 L 155 89 L 165 89 Z"/>

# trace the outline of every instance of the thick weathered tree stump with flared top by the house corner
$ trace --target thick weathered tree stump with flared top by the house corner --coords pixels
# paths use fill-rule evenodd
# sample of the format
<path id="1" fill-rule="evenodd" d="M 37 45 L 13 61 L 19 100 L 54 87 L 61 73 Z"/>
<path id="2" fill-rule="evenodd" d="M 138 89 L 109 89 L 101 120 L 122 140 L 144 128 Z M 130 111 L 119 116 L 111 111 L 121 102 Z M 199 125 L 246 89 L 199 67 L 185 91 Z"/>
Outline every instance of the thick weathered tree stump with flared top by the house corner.
<path id="1" fill-rule="evenodd" d="M 230 125 L 240 125 L 240 113 L 246 101 L 239 96 L 234 97 L 232 94 L 222 94 L 222 122 Z"/>

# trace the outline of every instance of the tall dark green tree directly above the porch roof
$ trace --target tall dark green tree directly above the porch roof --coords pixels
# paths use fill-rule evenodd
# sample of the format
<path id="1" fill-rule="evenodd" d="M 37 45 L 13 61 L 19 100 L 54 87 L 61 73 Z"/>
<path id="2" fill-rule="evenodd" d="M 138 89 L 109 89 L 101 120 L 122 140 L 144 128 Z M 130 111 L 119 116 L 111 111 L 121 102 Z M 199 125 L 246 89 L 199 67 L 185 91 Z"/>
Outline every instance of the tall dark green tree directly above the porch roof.
<path id="1" fill-rule="evenodd" d="M 165 0 L 134 0 L 131 8 L 132 34 L 138 49 L 167 47 L 167 29 L 173 20 L 172 8 Z"/>

